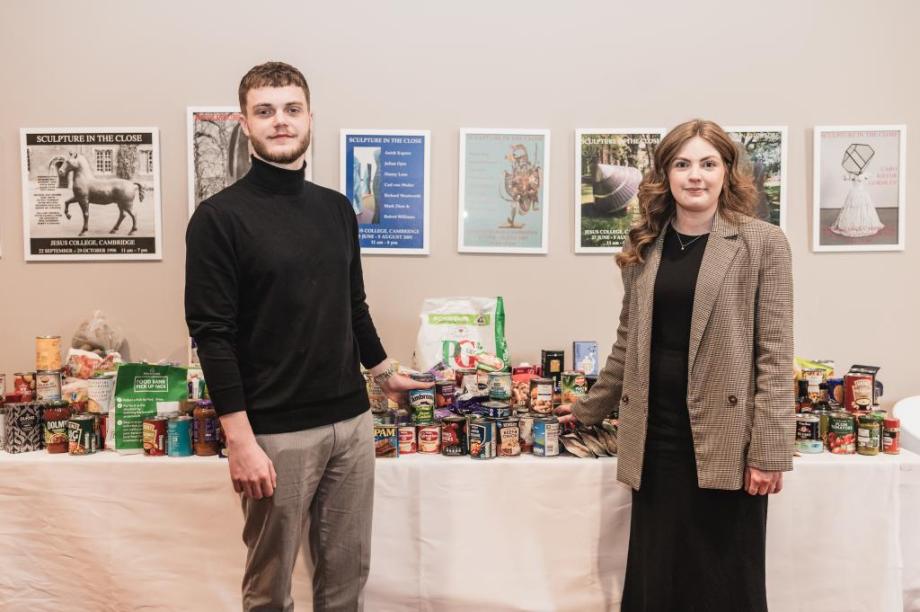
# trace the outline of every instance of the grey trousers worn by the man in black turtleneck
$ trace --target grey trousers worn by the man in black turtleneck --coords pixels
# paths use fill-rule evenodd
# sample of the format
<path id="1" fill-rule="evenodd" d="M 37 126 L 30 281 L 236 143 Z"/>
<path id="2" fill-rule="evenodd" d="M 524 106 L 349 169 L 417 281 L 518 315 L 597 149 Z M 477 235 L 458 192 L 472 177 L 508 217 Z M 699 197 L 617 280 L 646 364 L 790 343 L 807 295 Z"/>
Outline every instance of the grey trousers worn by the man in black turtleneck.
<path id="1" fill-rule="evenodd" d="M 272 497 L 242 498 L 243 610 L 294 609 L 291 575 L 303 548 L 313 560 L 313 610 L 363 610 L 370 568 L 374 442 L 370 411 L 324 427 L 256 440 L 275 466 Z"/>

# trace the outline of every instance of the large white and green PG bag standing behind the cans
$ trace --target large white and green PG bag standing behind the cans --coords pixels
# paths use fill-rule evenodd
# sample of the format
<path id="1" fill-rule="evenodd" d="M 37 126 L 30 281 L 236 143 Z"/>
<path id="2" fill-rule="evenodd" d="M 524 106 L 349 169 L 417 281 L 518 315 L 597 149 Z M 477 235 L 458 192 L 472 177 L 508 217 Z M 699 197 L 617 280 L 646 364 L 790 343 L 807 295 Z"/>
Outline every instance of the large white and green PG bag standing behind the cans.
<path id="1" fill-rule="evenodd" d="M 475 368 L 482 353 L 510 363 L 501 297 L 428 298 L 420 318 L 417 369 L 426 371 L 442 361 L 452 368 Z"/>

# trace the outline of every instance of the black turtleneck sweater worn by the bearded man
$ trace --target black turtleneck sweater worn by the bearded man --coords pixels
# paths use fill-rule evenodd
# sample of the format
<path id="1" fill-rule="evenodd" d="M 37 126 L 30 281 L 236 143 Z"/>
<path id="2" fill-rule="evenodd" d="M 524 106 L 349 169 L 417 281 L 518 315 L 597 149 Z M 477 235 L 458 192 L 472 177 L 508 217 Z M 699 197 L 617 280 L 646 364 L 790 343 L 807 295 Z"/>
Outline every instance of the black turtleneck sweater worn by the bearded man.
<path id="1" fill-rule="evenodd" d="M 219 414 L 246 410 L 267 434 L 368 409 L 358 363 L 386 353 L 343 195 L 253 158 L 201 203 L 185 240 L 185 317 Z"/>

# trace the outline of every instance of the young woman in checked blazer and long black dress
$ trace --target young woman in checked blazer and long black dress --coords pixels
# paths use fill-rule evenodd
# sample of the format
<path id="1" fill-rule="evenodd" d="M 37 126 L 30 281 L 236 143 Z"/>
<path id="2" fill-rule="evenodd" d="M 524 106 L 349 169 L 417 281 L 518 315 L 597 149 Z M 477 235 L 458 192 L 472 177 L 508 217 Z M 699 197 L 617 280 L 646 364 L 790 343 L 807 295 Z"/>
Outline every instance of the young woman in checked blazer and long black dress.
<path id="1" fill-rule="evenodd" d="M 622 610 L 766 610 L 767 495 L 792 469 L 792 271 L 733 142 L 694 120 L 658 145 L 617 256 L 616 343 L 561 420 L 619 405 L 633 488 Z"/>

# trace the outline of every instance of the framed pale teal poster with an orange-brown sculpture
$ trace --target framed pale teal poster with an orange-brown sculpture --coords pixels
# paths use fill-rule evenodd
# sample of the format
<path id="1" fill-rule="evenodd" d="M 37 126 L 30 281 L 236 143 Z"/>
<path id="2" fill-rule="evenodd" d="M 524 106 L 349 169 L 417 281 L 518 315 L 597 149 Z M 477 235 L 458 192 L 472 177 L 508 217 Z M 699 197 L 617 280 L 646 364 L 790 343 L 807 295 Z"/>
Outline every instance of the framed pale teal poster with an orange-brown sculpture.
<path id="1" fill-rule="evenodd" d="M 549 130 L 460 130 L 459 252 L 548 252 L 549 145 Z"/>

